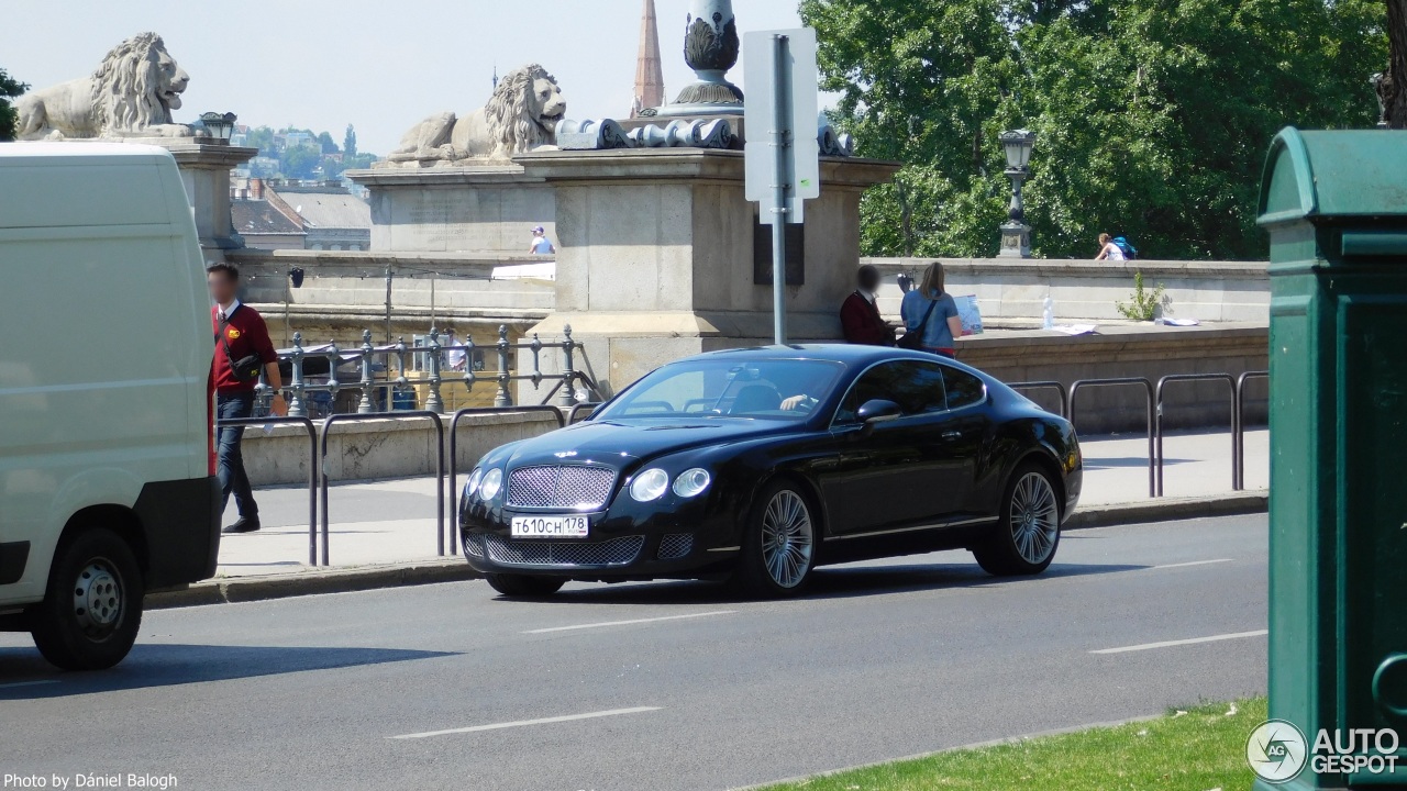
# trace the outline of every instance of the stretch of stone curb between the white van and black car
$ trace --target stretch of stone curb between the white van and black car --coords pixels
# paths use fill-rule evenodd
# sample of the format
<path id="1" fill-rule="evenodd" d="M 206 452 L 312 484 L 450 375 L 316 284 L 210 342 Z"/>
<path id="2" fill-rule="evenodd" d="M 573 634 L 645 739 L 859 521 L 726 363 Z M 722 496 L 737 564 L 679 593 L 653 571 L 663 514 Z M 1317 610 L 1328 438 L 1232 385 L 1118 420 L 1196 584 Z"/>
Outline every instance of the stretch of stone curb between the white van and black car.
<path id="1" fill-rule="evenodd" d="M 470 569 L 463 557 L 294 574 L 219 577 L 196 583 L 186 588 L 148 594 L 145 609 L 235 604 L 241 601 L 432 586 L 478 578 L 483 578 L 483 574 Z"/>

